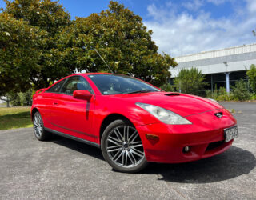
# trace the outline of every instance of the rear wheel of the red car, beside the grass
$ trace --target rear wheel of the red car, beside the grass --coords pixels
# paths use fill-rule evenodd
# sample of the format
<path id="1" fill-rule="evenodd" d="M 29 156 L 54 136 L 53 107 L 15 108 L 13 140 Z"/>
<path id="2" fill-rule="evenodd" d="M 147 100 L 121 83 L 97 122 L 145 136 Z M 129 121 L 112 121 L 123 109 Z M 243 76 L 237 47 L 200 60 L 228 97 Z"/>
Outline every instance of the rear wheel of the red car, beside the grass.
<path id="1" fill-rule="evenodd" d="M 45 130 L 41 114 L 38 111 L 33 116 L 33 130 L 35 138 L 39 141 L 46 141 L 50 138 L 50 133 Z"/>

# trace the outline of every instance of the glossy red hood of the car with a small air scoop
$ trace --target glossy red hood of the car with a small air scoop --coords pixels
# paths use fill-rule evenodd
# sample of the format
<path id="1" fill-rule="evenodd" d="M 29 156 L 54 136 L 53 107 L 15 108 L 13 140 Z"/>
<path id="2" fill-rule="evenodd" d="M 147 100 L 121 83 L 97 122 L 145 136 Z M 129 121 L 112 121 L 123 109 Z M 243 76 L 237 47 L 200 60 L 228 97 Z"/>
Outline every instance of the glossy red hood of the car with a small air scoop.
<path id="1" fill-rule="evenodd" d="M 223 108 L 218 103 L 207 98 L 201 98 L 190 94 L 151 92 L 142 94 L 119 94 L 114 96 L 112 97 L 118 98 L 119 101 L 131 103 L 142 102 L 160 106 L 167 110 L 171 110 L 182 117 Z"/>

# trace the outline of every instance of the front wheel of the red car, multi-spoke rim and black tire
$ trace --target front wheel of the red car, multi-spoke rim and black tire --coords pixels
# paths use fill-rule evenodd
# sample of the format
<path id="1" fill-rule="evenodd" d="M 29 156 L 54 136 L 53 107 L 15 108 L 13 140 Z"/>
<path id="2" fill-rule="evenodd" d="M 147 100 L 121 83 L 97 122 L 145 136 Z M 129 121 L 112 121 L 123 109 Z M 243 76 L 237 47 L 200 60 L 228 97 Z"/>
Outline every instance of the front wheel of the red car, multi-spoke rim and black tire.
<path id="1" fill-rule="evenodd" d="M 115 138 L 115 139 L 122 137 L 121 134 L 118 134 L 119 137 L 116 134 L 117 128 L 118 128 L 118 130 L 123 129 L 124 138 L 122 138 L 122 141 L 124 141 L 124 142 L 121 143 L 119 140 L 120 144 L 122 144 L 122 145 L 119 145 L 119 143 L 118 143 L 118 145 L 119 145 L 118 147 L 115 147 L 115 144 L 113 144 L 114 146 L 110 146 L 111 142 L 109 143 L 109 141 L 112 140 L 114 135 L 117 136 L 117 138 Z M 110 166 L 112 166 L 114 168 L 114 170 L 118 170 L 120 172 L 126 172 L 126 173 L 136 173 L 136 172 L 144 169 L 147 166 L 148 162 L 146 162 L 144 149 L 143 149 L 142 142 L 141 142 L 139 135 L 136 137 L 133 137 L 133 138 L 136 138 L 137 142 L 136 141 L 134 142 L 134 140 L 131 141 L 133 138 L 131 138 L 131 139 L 129 138 L 129 135 L 130 135 L 130 137 L 132 137 L 132 135 L 135 132 L 137 132 L 137 130 L 130 122 L 127 122 L 127 121 L 124 121 L 121 119 L 111 122 L 110 125 L 107 126 L 106 129 L 104 130 L 104 132 L 102 134 L 102 139 L 101 139 L 102 155 L 105 158 L 106 162 L 108 162 L 110 164 Z M 133 133 L 133 134 L 130 134 L 130 133 Z M 130 142 L 129 142 L 129 139 L 130 139 Z M 115 140 L 115 141 L 117 141 L 117 140 Z M 126 144 L 126 142 L 127 142 L 127 144 Z M 132 143 L 136 143 L 139 145 L 132 145 Z M 143 151 L 142 152 L 143 157 L 142 157 L 142 154 L 137 154 L 138 153 L 137 150 L 134 151 L 133 146 L 136 146 L 136 148 L 141 148 L 138 150 L 138 152 Z M 140 147 L 137 147 L 137 146 L 140 146 Z M 110 153 L 109 151 L 114 150 L 114 149 L 112 149 L 112 147 L 118 148 L 118 149 L 115 150 L 115 151 L 117 151 L 117 153 L 114 152 L 113 156 L 111 158 L 112 153 Z M 109 151 L 107 151 L 107 148 L 109 148 Z M 118 154 L 118 152 L 120 152 L 120 153 Z M 114 154 L 118 154 L 118 156 L 114 155 Z M 118 158 L 118 160 L 116 162 L 114 162 L 114 160 L 116 159 L 116 158 L 114 158 L 115 156 L 117 156 L 116 158 Z M 138 160 L 136 160 L 136 158 Z M 125 162 L 124 162 L 124 159 L 125 159 Z M 129 160 L 130 160 L 130 162 L 128 162 Z M 121 161 L 122 161 L 122 163 L 121 163 Z M 129 166 L 128 166 L 128 163 L 130 163 Z"/>

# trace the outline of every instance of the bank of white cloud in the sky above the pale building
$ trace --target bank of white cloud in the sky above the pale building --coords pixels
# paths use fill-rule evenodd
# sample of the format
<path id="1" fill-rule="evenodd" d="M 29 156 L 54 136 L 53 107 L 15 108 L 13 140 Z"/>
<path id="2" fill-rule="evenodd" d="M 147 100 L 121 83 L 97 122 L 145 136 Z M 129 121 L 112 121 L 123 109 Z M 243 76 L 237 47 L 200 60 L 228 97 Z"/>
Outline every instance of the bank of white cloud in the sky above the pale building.
<path id="1" fill-rule="evenodd" d="M 246 8 L 242 8 L 246 12 L 218 19 L 203 10 L 199 10 L 198 16 L 194 17 L 187 12 L 178 14 L 171 7 L 166 9 L 150 5 L 148 13 L 153 19 L 144 23 L 153 30 L 152 38 L 159 52 L 164 51 L 171 56 L 254 43 L 256 38 L 252 30 L 256 28 L 256 16 L 251 10 L 256 10 L 256 3 L 254 0 L 247 1 Z"/>

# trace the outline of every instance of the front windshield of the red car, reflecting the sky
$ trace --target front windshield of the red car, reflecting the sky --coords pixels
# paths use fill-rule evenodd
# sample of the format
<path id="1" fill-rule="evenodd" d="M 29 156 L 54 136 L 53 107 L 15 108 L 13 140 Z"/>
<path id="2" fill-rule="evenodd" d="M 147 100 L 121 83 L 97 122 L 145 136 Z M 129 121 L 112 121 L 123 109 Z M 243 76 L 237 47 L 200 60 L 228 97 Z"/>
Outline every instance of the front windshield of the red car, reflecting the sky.
<path id="1" fill-rule="evenodd" d="M 159 91 L 154 86 L 136 78 L 117 74 L 95 74 L 89 78 L 98 87 L 102 94 L 132 94 Z"/>

